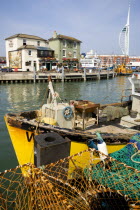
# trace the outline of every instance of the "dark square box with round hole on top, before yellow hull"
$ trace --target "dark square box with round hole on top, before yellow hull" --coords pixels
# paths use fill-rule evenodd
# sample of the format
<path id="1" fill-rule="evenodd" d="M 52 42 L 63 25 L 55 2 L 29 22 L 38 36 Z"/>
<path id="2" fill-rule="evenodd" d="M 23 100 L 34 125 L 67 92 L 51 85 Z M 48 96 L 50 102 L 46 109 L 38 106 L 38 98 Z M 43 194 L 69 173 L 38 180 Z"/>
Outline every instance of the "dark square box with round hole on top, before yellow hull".
<path id="1" fill-rule="evenodd" d="M 37 167 L 54 163 L 70 155 L 71 141 L 58 133 L 45 133 L 35 136 L 34 163 Z"/>

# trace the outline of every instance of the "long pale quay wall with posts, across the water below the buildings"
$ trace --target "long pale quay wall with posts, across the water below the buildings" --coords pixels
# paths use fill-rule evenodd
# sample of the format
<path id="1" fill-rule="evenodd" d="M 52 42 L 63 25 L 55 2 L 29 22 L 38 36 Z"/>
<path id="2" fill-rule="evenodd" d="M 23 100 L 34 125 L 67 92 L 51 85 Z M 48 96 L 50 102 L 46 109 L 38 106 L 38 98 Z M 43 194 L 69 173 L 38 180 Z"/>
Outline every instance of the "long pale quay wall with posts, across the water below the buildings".
<path id="1" fill-rule="evenodd" d="M 33 73 L 33 72 L 0 72 L 0 84 L 5 83 L 33 83 L 48 82 L 51 76 L 54 82 L 89 81 L 110 79 L 117 76 L 113 71 L 101 71 L 94 73 Z"/>

